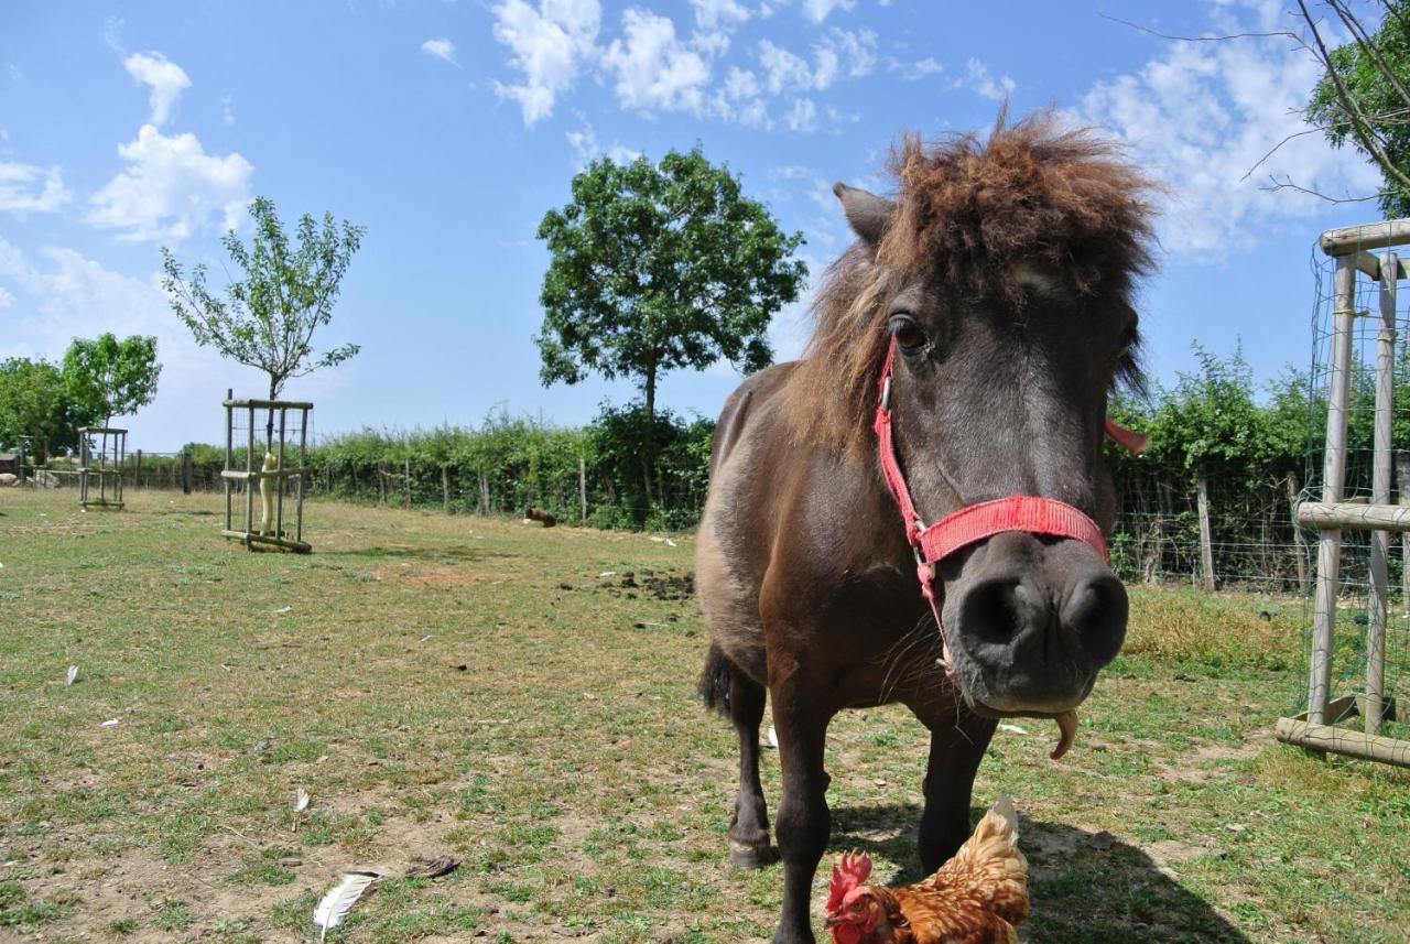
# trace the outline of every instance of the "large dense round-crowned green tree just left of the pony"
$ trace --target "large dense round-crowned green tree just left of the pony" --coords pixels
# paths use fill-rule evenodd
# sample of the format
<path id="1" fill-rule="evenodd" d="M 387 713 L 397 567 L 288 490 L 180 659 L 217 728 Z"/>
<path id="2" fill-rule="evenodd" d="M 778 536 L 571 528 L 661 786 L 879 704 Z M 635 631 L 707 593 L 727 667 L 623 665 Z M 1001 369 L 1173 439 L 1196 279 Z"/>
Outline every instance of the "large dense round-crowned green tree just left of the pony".
<path id="1" fill-rule="evenodd" d="M 594 372 L 632 378 L 647 431 L 666 371 L 721 358 L 744 372 L 767 366 L 768 321 L 808 278 L 791 258 L 802 234 L 780 230 L 699 148 L 671 151 L 660 163 L 594 161 L 572 178 L 572 201 L 544 214 L 539 238 L 551 255 L 534 338 L 543 383 L 578 383 Z"/>

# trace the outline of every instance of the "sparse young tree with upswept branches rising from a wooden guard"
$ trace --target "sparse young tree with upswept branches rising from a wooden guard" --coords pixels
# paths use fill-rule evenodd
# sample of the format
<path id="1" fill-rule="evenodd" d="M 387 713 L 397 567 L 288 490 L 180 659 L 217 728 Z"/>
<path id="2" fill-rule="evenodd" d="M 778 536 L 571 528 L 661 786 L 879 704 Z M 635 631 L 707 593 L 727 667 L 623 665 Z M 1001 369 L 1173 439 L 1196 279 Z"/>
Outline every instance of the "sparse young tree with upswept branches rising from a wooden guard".
<path id="1" fill-rule="evenodd" d="M 323 354 L 313 351 L 313 333 L 333 320 L 343 275 L 362 244 L 367 227 L 334 223 L 323 214 L 321 228 L 307 213 L 299 218 L 298 245 L 289 245 L 283 223 L 268 197 L 250 204 L 255 234 L 250 248 L 234 230 L 221 240 L 245 278 L 226 286 L 224 297 L 206 289 L 206 266 L 188 279 L 171 249 L 162 247 L 162 287 L 172 311 L 200 345 L 269 376 L 269 399 L 290 378 L 343 364 L 358 352 L 344 344 Z M 266 428 L 266 438 L 272 428 Z"/>

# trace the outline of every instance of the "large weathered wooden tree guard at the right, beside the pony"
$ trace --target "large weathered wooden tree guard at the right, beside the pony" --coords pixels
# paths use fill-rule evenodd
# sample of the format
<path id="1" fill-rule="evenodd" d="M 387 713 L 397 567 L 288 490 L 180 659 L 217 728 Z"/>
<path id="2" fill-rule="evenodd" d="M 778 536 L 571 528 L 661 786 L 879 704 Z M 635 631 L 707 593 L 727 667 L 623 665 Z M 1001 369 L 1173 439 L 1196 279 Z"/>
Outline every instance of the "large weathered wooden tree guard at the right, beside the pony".
<path id="1" fill-rule="evenodd" d="M 1316 530 L 1317 595 L 1313 610 L 1311 664 L 1307 682 L 1307 710 L 1279 719 L 1275 734 L 1280 741 L 1316 751 L 1332 751 L 1397 766 L 1410 766 L 1410 741 L 1383 737 L 1382 723 L 1390 716 L 1385 697 L 1386 614 L 1389 610 L 1390 533 L 1410 531 L 1410 507 L 1390 503 L 1392 431 L 1394 399 L 1396 286 L 1406 268 L 1394 252 L 1375 256 L 1368 248 L 1410 242 L 1410 221 L 1328 230 L 1321 237 L 1327 255 L 1337 259 L 1332 299 L 1331 364 L 1327 399 L 1327 454 L 1323 466 L 1321 502 L 1303 502 L 1297 524 Z M 1376 335 L 1375 448 L 1371 500 L 1347 502 L 1347 417 L 1351 407 L 1352 334 L 1358 317 L 1356 272 L 1380 283 L 1379 331 Z M 1369 317 L 1369 314 L 1368 314 Z M 1371 531 L 1366 613 L 1365 690 L 1332 699 L 1331 668 L 1341 585 L 1341 533 Z M 1347 727 L 1359 714 L 1363 730 Z"/>

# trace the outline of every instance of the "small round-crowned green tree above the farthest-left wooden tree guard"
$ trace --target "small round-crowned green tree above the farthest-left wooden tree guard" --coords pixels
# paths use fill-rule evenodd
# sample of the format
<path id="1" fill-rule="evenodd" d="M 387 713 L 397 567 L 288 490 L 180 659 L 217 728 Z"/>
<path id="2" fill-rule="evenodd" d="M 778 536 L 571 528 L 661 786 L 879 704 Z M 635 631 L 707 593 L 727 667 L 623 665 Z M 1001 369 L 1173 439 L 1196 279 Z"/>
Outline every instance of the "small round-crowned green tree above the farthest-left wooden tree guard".
<path id="1" fill-rule="evenodd" d="M 63 352 L 63 387 L 85 424 L 111 426 L 114 416 L 137 413 L 157 396 L 161 373 L 149 335 L 73 338 Z"/>

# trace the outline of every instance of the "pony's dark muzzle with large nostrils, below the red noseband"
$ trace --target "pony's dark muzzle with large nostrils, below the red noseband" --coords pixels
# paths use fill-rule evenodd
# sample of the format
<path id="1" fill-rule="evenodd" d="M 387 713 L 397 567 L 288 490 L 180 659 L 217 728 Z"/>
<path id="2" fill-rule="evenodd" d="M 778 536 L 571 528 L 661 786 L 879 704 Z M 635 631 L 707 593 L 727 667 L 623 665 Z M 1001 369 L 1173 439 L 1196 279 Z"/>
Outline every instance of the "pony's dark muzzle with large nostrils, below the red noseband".
<path id="1" fill-rule="evenodd" d="M 945 626 L 964 693 L 995 713 L 1076 707 L 1125 640 L 1125 588 L 1080 541 L 995 535 L 946 597 Z"/>

